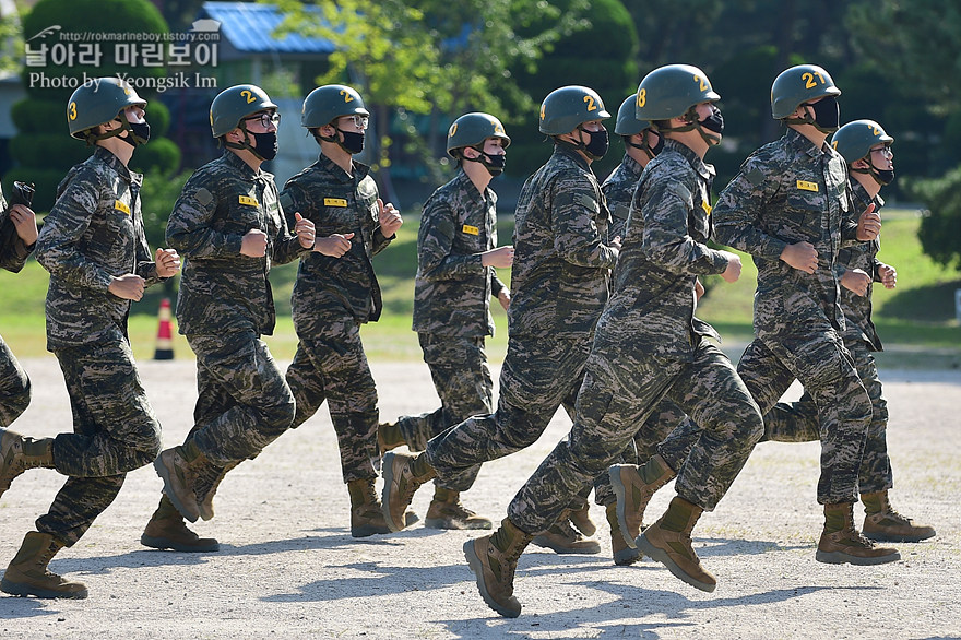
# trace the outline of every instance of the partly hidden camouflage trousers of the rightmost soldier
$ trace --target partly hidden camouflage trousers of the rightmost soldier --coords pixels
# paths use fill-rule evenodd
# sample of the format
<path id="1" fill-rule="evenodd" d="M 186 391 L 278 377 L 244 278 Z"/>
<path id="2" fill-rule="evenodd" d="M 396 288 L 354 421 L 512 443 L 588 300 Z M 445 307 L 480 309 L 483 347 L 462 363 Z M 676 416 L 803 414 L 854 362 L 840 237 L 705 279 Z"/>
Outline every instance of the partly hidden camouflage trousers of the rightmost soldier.
<path id="1" fill-rule="evenodd" d="M 894 486 L 891 460 L 888 458 L 888 401 L 885 400 L 875 357 L 867 344 L 857 337 L 845 340 L 844 346 L 851 352 L 861 383 L 871 401 L 871 418 L 861 459 L 858 490 L 862 494 L 886 491 Z M 807 391 L 797 402 L 779 402 L 764 416 L 763 440 L 812 442 L 820 438 L 818 405 Z"/>

